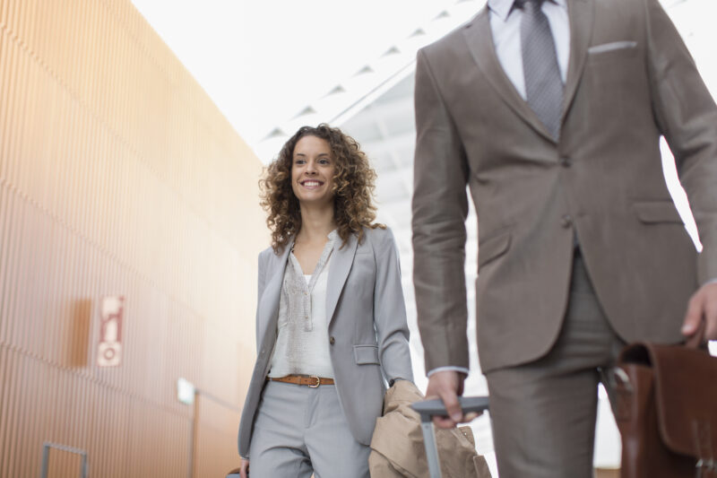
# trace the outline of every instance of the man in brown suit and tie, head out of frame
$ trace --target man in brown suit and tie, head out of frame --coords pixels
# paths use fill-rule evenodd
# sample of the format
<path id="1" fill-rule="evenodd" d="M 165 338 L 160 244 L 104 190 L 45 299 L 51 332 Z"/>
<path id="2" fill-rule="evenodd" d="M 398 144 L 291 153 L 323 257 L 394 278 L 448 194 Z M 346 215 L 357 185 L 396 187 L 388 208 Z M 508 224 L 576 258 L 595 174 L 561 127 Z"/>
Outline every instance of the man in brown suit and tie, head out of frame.
<path id="1" fill-rule="evenodd" d="M 700 324 L 717 339 L 713 98 L 658 0 L 488 0 L 419 52 L 415 94 L 414 283 L 427 395 L 450 415 L 436 424 L 462 420 L 468 186 L 501 477 L 592 476 L 597 387 L 620 348 Z"/>

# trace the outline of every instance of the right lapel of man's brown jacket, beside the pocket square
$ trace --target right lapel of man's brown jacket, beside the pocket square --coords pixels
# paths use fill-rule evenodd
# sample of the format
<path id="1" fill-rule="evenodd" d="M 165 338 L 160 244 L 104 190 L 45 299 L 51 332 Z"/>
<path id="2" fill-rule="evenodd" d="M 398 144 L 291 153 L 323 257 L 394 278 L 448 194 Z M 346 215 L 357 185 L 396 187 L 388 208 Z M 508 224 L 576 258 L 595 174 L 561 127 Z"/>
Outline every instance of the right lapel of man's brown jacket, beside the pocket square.
<path id="1" fill-rule="evenodd" d="M 592 0 L 568 0 L 567 14 L 570 18 L 570 60 L 567 65 L 566 89 L 563 95 L 564 119 L 574 100 L 588 56 L 594 16 Z"/>

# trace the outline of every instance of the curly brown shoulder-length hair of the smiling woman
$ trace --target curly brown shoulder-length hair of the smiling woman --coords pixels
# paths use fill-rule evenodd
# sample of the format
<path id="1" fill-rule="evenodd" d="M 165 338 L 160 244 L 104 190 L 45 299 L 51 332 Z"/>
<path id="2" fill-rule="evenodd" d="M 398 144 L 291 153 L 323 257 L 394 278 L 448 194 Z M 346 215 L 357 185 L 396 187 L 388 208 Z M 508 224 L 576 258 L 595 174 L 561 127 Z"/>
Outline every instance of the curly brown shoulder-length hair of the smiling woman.
<path id="1" fill-rule="evenodd" d="M 272 231 L 272 248 L 276 253 L 286 247 L 289 239 L 301 230 L 301 212 L 298 199 L 291 188 L 291 165 L 294 148 L 304 136 L 315 136 L 329 143 L 335 163 L 333 177 L 333 220 L 337 224 L 341 247 L 351 234 L 360 243 L 363 227 L 385 229 L 374 223 L 376 206 L 373 204 L 376 171 L 361 151 L 358 142 L 344 135 L 339 128 L 322 123 L 319 126 L 302 126 L 284 143 L 279 157 L 264 169 L 259 181 L 261 205 L 268 213 L 266 225 Z"/>

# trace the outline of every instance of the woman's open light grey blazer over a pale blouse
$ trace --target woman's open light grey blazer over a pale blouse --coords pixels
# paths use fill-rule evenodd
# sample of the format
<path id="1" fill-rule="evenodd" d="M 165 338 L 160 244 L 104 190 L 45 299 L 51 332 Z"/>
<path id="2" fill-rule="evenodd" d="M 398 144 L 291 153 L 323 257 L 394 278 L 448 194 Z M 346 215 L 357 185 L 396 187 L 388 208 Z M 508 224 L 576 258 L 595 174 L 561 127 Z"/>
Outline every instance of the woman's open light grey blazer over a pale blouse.
<path id="1" fill-rule="evenodd" d="M 381 416 L 386 381 L 413 380 L 401 271 L 391 230 L 364 228 L 335 248 L 326 291 L 326 340 L 339 401 L 354 438 L 368 445 Z M 340 244 L 340 243 L 339 243 Z M 276 343 L 281 278 L 289 247 L 259 254 L 256 308 L 258 356 L 239 425 L 239 455 L 247 457 L 255 414 Z M 344 293 L 346 291 L 346 293 Z"/>

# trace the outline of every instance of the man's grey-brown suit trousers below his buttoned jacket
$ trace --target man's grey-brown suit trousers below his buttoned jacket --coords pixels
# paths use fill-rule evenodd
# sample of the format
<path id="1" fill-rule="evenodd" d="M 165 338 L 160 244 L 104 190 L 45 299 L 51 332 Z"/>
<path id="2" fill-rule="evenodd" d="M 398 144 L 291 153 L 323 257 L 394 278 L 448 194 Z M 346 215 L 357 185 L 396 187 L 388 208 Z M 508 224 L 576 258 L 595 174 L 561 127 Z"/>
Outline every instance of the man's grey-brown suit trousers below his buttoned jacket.
<path id="1" fill-rule="evenodd" d="M 587 478 L 598 384 L 625 344 L 612 330 L 577 253 L 565 323 L 550 352 L 489 372 L 490 417 L 500 478 Z"/>

